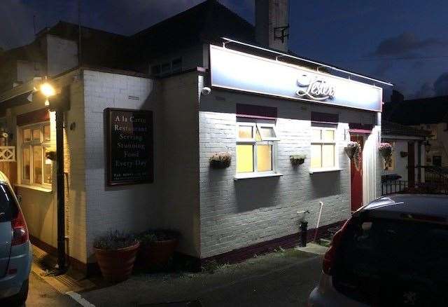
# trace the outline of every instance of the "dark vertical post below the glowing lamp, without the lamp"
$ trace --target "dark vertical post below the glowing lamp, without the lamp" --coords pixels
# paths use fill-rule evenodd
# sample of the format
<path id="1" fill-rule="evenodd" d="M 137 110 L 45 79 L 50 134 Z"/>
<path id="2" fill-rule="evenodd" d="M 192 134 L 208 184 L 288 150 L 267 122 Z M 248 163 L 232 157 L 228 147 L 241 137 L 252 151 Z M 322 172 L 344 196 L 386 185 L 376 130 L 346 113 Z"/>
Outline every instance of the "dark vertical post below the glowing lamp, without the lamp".
<path id="1" fill-rule="evenodd" d="M 64 112 L 56 110 L 57 266 L 65 268 Z"/>

